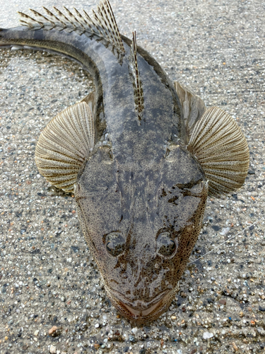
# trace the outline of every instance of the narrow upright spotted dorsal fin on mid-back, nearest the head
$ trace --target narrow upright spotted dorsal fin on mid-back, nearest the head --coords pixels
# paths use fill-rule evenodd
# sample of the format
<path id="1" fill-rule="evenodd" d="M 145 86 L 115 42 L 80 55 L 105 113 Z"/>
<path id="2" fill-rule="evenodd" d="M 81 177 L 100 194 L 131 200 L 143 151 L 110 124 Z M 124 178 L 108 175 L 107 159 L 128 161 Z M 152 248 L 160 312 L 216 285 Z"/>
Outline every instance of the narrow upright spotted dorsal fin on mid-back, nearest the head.
<path id="1" fill-rule="evenodd" d="M 140 80 L 138 62 L 137 62 L 137 43 L 136 32 L 133 32 L 133 39 L 131 42 L 131 55 L 129 59 L 129 69 L 133 77 L 134 84 L 134 102 L 138 112 L 138 118 L 141 120 L 143 112 L 143 86 Z"/>

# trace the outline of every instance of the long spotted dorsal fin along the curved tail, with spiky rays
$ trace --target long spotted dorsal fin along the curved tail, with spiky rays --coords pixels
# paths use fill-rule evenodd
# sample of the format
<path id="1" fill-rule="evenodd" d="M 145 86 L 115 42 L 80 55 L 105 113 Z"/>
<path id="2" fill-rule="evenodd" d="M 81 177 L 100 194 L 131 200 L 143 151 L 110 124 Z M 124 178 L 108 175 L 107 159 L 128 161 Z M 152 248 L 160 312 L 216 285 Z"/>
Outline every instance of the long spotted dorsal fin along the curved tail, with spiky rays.
<path id="1" fill-rule="evenodd" d="M 75 14 L 64 7 L 66 15 L 54 7 L 54 13 L 43 7 L 45 16 L 35 10 L 30 9 L 35 18 L 18 12 L 20 23 L 27 26 L 30 30 L 66 30 L 67 32 L 76 32 L 79 35 L 98 35 L 98 37 L 107 40 L 117 49 L 120 54 L 124 54 L 124 45 L 119 33 L 119 28 L 114 18 L 110 2 L 101 0 L 98 5 L 98 11 L 93 11 L 94 19 L 88 16 L 83 10 L 83 16 L 74 8 Z"/>

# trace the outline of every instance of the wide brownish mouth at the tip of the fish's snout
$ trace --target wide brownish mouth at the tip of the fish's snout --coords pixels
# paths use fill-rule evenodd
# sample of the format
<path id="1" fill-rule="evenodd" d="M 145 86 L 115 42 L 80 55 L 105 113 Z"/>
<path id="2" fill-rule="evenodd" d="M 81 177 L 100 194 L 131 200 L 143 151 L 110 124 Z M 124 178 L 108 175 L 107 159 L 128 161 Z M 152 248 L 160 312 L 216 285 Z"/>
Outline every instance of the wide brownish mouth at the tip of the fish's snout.
<path id="1" fill-rule="evenodd" d="M 151 301 L 144 302 L 143 300 L 136 300 L 130 302 L 120 292 L 114 291 L 106 287 L 108 297 L 114 307 L 127 319 L 135 321 L 136 324 L 146 324 L 149 321 L 157 319 L 163 312 L 167 310 L 173 297 L 175 290 L 168 289 L 156 295 Z"/>

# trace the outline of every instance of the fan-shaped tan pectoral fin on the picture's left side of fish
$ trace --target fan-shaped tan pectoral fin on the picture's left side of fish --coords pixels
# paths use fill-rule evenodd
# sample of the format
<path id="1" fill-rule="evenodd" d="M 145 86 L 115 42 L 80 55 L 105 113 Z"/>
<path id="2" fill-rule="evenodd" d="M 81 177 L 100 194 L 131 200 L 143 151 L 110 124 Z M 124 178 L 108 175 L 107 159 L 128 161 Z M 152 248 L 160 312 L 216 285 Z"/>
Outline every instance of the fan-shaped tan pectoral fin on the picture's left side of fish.
<path id="1" fill-rule="evenodd" d="M 88 96 L 54 117 L 35 149 L 40 174 L 66 192 L 73 192 L 78 172 L 95 144 L 93 106 L 90 108 Z"/>

